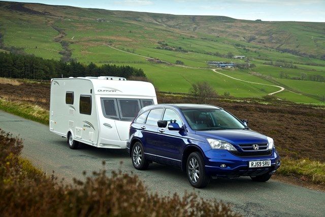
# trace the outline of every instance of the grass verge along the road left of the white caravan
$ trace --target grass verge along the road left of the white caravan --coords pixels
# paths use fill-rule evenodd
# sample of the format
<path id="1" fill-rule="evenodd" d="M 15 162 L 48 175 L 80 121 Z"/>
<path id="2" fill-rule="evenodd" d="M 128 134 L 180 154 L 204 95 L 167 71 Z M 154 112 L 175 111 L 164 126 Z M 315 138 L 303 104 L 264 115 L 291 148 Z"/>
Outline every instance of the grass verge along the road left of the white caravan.
<path id="1" fill-rule="evenodd" d="M 45 125 L 49 123 L 49 111 L 38 105 L 0 99 L 0 109 L 26 119 L 44 123 Z"/>

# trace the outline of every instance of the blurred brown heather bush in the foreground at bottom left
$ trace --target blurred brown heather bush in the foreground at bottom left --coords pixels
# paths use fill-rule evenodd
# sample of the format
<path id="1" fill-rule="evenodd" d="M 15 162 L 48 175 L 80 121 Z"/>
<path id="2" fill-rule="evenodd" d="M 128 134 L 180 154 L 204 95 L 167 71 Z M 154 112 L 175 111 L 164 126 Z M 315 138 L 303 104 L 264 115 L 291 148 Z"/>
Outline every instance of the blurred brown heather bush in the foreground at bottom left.
<path id="1" fill-rule="evenodd" d="M 196 194 L 148 193 L 136 175 L 107 175 L 104 162 L 101 171 L 64 184 L 22 161 L 21 149 L 20 139 L 0 132 L 2 216 L 238 216 L 228 205 Z"/>

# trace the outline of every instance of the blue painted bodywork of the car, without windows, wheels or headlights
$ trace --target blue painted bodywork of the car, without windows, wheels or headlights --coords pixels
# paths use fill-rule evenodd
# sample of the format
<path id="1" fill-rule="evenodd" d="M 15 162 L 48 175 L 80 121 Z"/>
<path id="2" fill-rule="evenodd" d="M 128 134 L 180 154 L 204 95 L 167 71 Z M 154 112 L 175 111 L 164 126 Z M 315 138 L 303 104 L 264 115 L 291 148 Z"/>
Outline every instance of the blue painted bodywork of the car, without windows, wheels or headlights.
<path id="1" fill-rule="evenodd" d="M 186 160 L 184 153 L 187 148 L 196 147 L 202 154 L 206 173 L 212 176 L 241 176 L 259 175 L 267 172 L 275 172 L 280 166 L 280 156 L 276 148 L 272 148 L 271 154 L 267 156 L 236 156 L 228 150 L 212 149 L 207 138 L 220 139 L 232 144 L 240 152 L 238 144 L 267 144 L 267 136 L 259 134 L 249 129 L 245 130 L 192 130 L 181 109 L 172 104 L 152 105 L 143 108 L 139 115 L 154 108 L 170 108 L 176 111 L 184 123 L 183 131 L 171 131 L 168 128 L 149 126 L 145 123 L 131 124 L 127 149 L 131 156 L 132 145 L 135 141 L 140 141 L 144 147 L 145 158 L 154 162 L 179 166 L 184 169 Z M 145 127 L 142 129 L 141 127 Z M 164 130 L 160 132 L 159 130 Z M 249 161 L 271 160 L 271 167 L 268 168 L 248 168 Z M 220 165 L 225 164 L 225 168 Z"/>

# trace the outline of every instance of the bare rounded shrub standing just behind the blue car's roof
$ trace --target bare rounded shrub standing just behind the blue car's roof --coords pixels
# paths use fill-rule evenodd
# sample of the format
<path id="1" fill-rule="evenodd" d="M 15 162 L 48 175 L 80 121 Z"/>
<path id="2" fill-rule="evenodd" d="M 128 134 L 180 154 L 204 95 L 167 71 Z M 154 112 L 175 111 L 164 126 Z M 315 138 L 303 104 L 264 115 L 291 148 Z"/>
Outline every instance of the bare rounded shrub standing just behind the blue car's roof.
<path id="1" fill-rule="evenodd" d="M 217 92 L 207 81 L 193 83 L 189 89 L 189 94 L 193 95 L 197 103 L 204 104 L 206 104 L 209 99 L 217 97 Z"/>

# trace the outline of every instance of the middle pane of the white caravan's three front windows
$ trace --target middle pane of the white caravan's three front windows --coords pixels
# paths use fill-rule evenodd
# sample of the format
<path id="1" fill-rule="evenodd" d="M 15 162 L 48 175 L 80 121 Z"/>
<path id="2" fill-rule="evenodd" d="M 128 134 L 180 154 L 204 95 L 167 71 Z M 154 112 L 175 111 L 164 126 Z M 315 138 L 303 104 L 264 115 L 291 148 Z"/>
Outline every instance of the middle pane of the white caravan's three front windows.
<path id="1" fill-rule="evenodd" d="M 140 111 L 139 100 L 118 100 L 122 119 L 133 119 Z"/>

